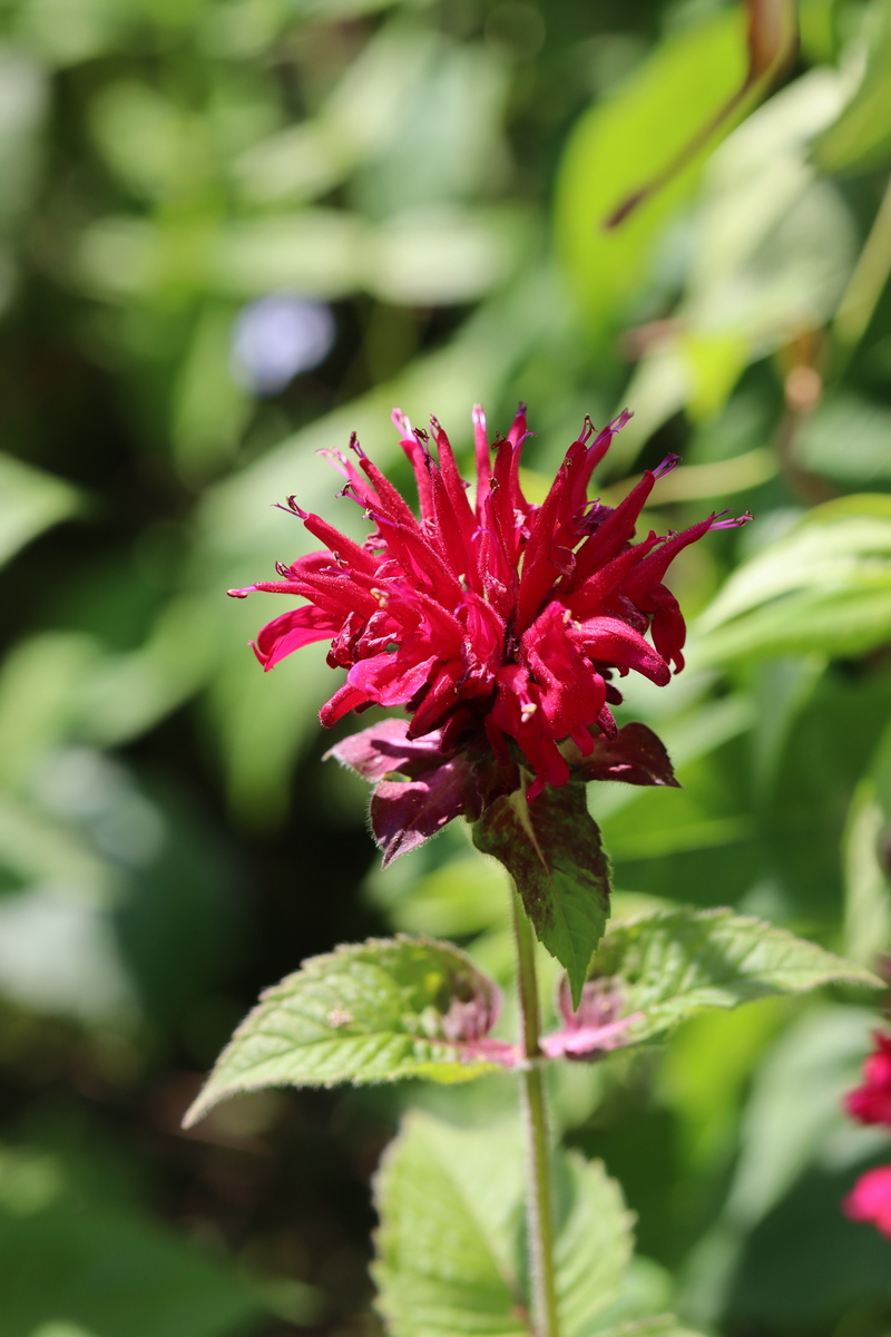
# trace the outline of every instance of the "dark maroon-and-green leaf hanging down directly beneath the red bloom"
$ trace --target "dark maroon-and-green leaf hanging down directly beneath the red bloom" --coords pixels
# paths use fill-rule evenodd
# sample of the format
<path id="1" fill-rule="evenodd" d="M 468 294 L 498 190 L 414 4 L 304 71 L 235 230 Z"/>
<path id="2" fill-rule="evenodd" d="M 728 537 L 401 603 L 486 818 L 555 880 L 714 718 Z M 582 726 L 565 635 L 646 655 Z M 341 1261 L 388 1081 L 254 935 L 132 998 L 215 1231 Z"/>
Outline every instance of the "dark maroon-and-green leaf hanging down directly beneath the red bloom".
<path id="1" fill-rule="evenodd" d="M 576 1003 L 609 916 L 609 864 L 581 785 L 550 786 L 534 802 L 498 798 L 473 842 L 513 877 L 540 941 L 566 969 Z"/>

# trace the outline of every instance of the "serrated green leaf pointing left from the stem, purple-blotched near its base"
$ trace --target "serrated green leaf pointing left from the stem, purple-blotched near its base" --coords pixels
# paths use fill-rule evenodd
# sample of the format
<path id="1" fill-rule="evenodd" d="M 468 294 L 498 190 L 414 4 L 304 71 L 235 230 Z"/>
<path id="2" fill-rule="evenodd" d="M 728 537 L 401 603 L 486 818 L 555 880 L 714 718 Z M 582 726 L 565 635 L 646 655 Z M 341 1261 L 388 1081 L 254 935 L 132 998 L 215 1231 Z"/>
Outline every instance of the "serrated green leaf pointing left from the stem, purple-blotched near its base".
<path id="1" fill-rule="evenodd" d="M 496 985 L 448 943 L 370 939 L 314 956 L 260 996 L 186 1127 L 226 1096 L 270 1086 L 466 1082 L 494 1071 L 466 1042 L 486 1034 L 497 1009 Z"/>

